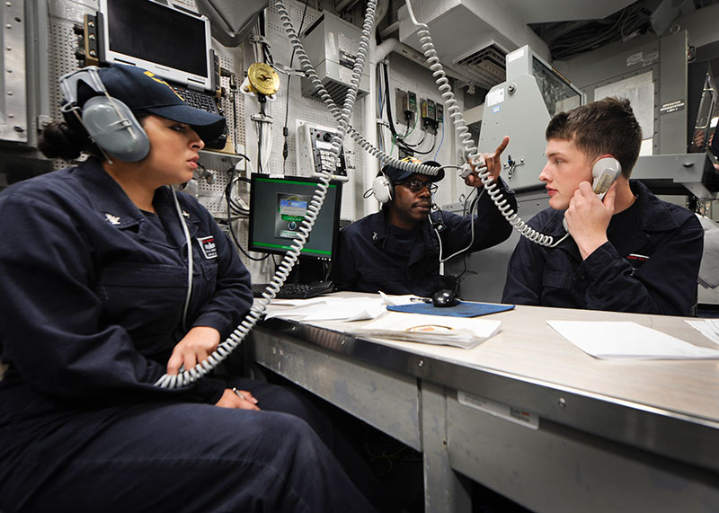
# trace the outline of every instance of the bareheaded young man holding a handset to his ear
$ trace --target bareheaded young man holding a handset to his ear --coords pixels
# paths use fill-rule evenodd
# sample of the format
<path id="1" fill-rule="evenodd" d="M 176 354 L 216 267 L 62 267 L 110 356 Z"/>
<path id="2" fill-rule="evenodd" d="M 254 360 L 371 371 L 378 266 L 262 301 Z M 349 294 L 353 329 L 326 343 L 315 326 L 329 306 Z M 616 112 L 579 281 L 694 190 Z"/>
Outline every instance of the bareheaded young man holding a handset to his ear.
<path id="1" fill-rule="evenodd" d="M 546 128 L 546 141 L 539 180 L 550 208 L 528 225 L 555 241 L 566 230 L 571 236 L 554 248 L 522 238 L 502 302 L 693 314 L 704 233 L 686 208 L 629 180 L 642 144 L 629 101 L 606 98 L 560 112 Z M 600 159 L 616 159 L 622 170 L 603 199 L 591 183 Z"/>

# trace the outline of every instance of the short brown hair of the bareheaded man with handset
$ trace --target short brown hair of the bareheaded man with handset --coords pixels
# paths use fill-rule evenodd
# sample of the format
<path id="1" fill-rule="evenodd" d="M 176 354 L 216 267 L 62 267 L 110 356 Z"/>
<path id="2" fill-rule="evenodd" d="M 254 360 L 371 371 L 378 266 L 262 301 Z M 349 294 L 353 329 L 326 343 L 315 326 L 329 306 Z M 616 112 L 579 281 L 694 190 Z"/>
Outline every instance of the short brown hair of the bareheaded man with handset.
<path id="1" fill-rule="evenodd" d="M 590 159 L 613 155 L 622 165 L 626 178 L 632 174 L 642 146 L 642 128 L 629 100 L 614 97 L 559 112 L 549 121 L 545 137 L 547 141 L 573 141 Z"/>

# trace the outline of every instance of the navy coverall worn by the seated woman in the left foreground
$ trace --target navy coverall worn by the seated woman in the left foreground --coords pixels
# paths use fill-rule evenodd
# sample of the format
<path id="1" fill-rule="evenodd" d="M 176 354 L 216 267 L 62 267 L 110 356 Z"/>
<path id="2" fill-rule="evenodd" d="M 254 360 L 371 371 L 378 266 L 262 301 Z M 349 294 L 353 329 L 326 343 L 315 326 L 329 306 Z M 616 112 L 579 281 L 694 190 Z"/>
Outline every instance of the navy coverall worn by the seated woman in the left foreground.
<path id="1" fill-rule="evenodd" d="M 91 159 L 0 195 L 0 509 L 371 511 L 315 430 L 280 412 L 311 416 L 286 389 L 154 385 L 185 333 L 172 194 L 143 213 Z M 249 274 L 207 210 L 180 201 L 187 329 L 224 340 L 251 305 Z M 215 406 L 232 386 L 263 411 Z"/>

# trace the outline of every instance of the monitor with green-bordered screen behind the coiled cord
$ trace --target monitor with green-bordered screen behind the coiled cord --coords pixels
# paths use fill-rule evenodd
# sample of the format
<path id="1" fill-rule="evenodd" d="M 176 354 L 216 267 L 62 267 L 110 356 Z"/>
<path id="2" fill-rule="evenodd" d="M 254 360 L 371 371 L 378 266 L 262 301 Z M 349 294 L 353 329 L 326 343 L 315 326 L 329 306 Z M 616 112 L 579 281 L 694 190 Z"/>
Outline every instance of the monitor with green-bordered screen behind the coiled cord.
<path id="1" fill-rule="evenodd" d="M 253 252 L 284 254 L 297 236 L 300 223 L 317 188 L 316 178 L 272 177 L 253 173 L 250 183 L 250 240 Z M 342 182 L 332 181 L 324 203 L 300 255 L 331 260 L 340 229 Z"/>

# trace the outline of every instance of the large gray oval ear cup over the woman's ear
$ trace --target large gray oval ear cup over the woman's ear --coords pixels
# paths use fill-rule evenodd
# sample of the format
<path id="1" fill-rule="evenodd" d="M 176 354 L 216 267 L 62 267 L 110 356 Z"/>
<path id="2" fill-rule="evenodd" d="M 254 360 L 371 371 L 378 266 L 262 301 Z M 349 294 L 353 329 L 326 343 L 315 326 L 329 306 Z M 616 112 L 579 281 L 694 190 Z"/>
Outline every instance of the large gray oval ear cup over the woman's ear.
<path id="1" fill-rule="evenodd" d="M 150 151 L 150 141 L 125 103 L 93 96 L 83 107 L 83 125 L 97 146 L 125 162 L 138 162 Z"/>

